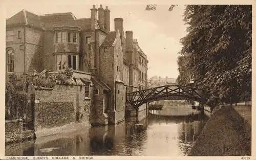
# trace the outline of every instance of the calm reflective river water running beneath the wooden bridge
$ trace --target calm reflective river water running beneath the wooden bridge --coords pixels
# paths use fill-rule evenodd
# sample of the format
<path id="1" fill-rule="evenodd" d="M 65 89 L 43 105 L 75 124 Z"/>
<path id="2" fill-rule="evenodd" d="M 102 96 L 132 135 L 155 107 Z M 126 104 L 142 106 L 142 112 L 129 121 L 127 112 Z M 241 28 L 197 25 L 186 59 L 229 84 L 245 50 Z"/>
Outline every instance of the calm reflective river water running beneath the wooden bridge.
<path id="1" fill-rule="evenodd" d="M 93 127 L 38 138 L 35 142 L 8 145 L 6 155 L 184 156 L 193 147 L 207 118 L 202 114 L 194 117 L 167 116 L 172 115 L 171 112 L 169 107 L 151 111 L 155 115 L 149 113 L 139 126 L 135 125 L 136 118 L 130 118 L 118 125 Z"/>

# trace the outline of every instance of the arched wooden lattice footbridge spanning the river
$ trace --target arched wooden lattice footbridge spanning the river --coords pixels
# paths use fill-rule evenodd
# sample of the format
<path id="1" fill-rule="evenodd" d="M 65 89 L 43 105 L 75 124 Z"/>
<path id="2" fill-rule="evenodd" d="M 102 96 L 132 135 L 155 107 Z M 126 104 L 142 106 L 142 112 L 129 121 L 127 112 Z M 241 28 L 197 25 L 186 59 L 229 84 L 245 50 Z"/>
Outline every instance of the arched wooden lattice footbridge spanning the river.
<path id="1" fill-rule="evenodd" d="M 138 108 L 143 103 L 159 100 L 193 100 L 205 104 L 210 97 L 202 89 L 183 85 L 163 85 L 126 94 L 126 102 Z"/>

